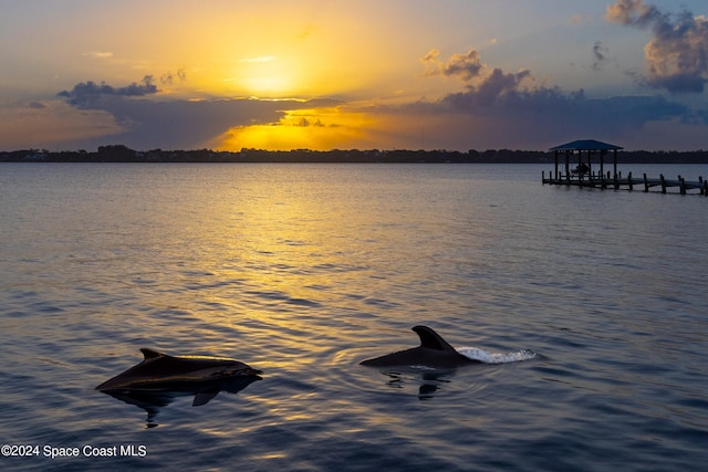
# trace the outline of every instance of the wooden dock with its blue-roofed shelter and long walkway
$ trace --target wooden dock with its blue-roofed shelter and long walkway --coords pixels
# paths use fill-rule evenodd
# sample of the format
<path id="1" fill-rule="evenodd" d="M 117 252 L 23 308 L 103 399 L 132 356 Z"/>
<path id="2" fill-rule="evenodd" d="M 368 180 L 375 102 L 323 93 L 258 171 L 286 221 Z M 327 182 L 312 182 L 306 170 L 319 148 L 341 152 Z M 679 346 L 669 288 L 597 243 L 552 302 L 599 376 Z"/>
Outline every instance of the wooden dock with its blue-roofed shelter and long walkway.
<path id="1" fill-rule="evenodd" d="M 664 175 L 658 178 L 649 178 L 646 174 L 642 177 L 632 176 L 629 172 L 626 177 L 622 172 L 617 172 L 617 150 L 622 149 L 607 143 L 594 139 L 581 139 L 564 145 L 552 147 L 550 150 L 555 156 L 555 168 L 549 172 L 542 172 L 542 182 L 550 185 L 563 185 L 575 187 L 591 188 L 614 188 L 634 190 L 643 188 L 648 192 L 653 188 L 660 188 L 662 193 L 666 193 L 668 188 L 678 188 L 679 193 L 686 195 L 689 190 L 698 190 L 700 195 L 708 197 L 708 181 L 702 177 L 698 177 L 698 181 L 689 181 L 678 176 L 677 179 L 667 179 Z M 605 172 L 605 159 L 612 155 L 613 170 Z M 562 159 L 564 156 L 564 159 Z M 571 164 L 571 156 L 575 161 Z M 593 156 L 597 159 L 593 162 Z M 571 167 L 573 166 L 573 167 Z M 593 166 L 598 166 L 593 168 Z"/>

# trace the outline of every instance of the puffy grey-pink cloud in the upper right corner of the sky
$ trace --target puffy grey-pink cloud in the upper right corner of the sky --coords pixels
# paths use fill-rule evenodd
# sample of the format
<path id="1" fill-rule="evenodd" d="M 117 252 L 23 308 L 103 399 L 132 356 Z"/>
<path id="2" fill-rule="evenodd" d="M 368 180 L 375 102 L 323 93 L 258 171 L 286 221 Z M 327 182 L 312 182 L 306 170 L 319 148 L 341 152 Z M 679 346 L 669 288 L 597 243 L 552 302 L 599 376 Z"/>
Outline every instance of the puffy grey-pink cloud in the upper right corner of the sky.
<path id="1" fill-rule="evenodd" d="M 671 93 L 700 93 L 708 82 L 708 19 L 688 10 L 660 11 L 644 0 L 617 0 L 605 19 L 623 25 L 650 28 L 654 38 L 644 46 L 646 83 Z"/>

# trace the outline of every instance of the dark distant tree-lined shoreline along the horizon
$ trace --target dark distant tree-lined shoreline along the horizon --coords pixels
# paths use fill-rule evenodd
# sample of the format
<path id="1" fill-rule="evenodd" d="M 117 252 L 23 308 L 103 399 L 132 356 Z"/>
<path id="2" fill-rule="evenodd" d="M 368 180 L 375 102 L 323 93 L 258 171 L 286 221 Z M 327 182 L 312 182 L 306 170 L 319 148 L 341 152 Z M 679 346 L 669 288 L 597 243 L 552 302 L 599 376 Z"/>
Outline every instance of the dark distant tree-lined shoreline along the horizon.
<path id="1" fill-rule="evenodd" d="M 605 158 L 606 160 L 606 158 Z M 101 146 L 95 153 L 85 150 L 50 151 L 21 149 L 0 151 L 0 162 L 326 162 L 326 164 L 552 164 L 551 151 L 487 149 L 467 153 L 450 150 L 308 150 L 288 151 L 241 149 L 240 151 L 134 150 L 123 145 Z M 708 150 L 695 151 L 620 151 L 621 164 L 708 164 Z"/>

